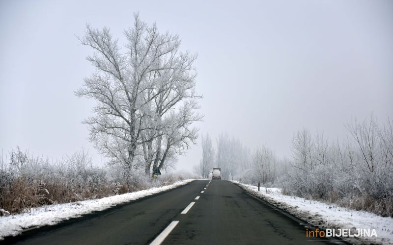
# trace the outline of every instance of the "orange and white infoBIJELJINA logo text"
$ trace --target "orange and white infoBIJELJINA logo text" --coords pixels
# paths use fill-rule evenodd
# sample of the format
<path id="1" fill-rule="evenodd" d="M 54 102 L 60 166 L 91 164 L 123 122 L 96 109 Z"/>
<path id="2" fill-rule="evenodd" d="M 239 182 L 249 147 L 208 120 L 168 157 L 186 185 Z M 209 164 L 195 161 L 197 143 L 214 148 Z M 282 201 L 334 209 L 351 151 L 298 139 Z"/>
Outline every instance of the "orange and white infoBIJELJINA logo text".
<path id="1" fill-rule="evenodd" d="M 324 237 L 378 237 L 375 229 L 306 229 L 306 236 L 312 238 Z"/>

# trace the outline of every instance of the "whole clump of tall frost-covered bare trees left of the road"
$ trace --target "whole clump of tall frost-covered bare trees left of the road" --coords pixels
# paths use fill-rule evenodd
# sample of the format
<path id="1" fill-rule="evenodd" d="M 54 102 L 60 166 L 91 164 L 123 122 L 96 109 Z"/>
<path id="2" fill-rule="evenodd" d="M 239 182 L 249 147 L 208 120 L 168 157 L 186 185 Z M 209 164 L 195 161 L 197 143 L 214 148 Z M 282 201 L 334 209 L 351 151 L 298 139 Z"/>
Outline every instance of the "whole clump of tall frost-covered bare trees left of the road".
<path id="1" fill-rule="evenodd" d="M 195 91 L 197 55 L 180 51 L 180 39 L 160 33 L 135 15 L 124 31 L 127 44 L 118 45 L 108 28 L 86 25 L 80 38 L 93 49 L 87 60 L 96 71 L 84 79 L 78 97 L 97 101 L 94 116 L 84 120 L 94 146 L 125 174 L 169 166 L 177 154 L 195 144 L 198 129 Z"/>

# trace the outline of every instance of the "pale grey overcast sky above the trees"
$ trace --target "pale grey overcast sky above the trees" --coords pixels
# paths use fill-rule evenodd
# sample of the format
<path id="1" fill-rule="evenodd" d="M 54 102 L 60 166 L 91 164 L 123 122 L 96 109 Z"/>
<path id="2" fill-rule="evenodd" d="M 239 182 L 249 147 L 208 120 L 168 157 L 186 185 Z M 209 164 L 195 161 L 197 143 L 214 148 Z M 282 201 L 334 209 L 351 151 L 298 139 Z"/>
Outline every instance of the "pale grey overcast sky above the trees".
<path id="1" fill-rule="evenodd" d="M 105 25 L 125 44 L 138 11 L 198 53 L 200 133 L 226 131 L 285 156 L 304 126 L 336 140 L 351 117 L 393 118 L 391 0 L 1 0 L 0 149 L 56 158 L 84 147 L 102 163 L 80 123 L 94 101 L 73 93 L 93 71 L 75 35 Z M 178 168 L 192 169 L 200 152 Z"/>

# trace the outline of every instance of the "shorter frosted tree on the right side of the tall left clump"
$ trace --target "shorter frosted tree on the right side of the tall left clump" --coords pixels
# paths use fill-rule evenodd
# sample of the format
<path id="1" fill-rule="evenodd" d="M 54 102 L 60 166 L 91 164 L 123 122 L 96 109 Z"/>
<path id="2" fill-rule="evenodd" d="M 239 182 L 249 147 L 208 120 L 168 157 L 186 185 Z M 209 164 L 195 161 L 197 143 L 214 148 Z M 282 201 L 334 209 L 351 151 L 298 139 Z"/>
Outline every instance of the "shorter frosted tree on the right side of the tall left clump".
<path id="1" fill-rule="evenodd" d="M 195 144 L 197 130 L 190 126 L 202 118 L 195 113 L 199 108 L 197 99 L 201 98 L 195 92 L 193 62 L 196 57 L 189 52 L 180 53 L 177 59 L 172 60 L 172 69 L 162 71 L 157 86 L 149 88 L 145 93 L 145 101 L 160 94 L 150 103 L 149 116 L 144 119 L 152 125 L 142 134 L 146 173 L 149 173 L 151 167 L 162 168 L 170 150 L 181 154 L 185 151 L 180 148 L 188 149 L 190 143 Z M 152 137 L 154 135 L 156 137 Z"/>

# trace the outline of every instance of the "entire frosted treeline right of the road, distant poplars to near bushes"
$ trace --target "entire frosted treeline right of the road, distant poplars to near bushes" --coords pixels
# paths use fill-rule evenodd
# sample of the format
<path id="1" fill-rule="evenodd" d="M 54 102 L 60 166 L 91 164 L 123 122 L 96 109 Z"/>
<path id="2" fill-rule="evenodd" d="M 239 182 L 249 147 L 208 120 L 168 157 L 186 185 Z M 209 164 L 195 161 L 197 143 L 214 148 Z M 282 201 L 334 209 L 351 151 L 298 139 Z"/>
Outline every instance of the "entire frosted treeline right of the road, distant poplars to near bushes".
<path id="1" fill-rule="evenodd" d="M 238 140 L 225 140 L 225 133 L 217 139 L 216 150 L 207 135 L 198 172 L 222 166 L 225 178 L 241 177 L 252 184 L 279 187 L 283 194 L 393 217 L 393 122 L 388 118 L 378 123 L 371 116 L 347 123 L 346 128 L 348 136 L 341 141 L 329 141 L 307 128 L 299 130 L 287 158 L 278 158 L 267 145 L 251 151 Z"/>

